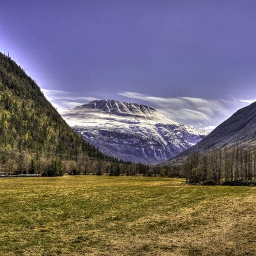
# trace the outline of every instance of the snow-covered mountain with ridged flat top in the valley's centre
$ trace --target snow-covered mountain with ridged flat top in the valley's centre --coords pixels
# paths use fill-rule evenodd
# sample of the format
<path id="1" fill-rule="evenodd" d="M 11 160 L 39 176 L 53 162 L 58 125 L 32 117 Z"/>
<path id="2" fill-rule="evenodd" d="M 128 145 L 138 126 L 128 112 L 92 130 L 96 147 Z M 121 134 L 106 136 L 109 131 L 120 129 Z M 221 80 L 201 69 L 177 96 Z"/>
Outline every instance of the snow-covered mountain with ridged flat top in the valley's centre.
<path id="1" fill-rule="evenodd" d="M 68 109 L 62 116 L 103 153 L 132 162 L 163 162 L 207 135 L 150 106 L 117 100 L 94 100 Z"/>

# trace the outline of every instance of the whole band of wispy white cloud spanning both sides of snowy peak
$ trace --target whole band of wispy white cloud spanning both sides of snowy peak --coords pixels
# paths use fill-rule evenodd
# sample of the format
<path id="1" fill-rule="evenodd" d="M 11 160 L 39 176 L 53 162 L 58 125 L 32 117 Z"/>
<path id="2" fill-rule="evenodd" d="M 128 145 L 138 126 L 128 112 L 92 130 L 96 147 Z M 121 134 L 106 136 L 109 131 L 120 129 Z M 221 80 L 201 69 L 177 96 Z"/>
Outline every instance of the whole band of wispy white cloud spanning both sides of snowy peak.
<path id="1" fill-rule="evenodd" d="M 165 116 L 175 121 L 192 125 L 197 129 L 212 131 L 218 124 L 227 119 L 237 109 L 254 102 L 256 99 L 207 99 L 199 97 L 156 97 L 145 93 L 124 91 L 117 95 L 94 93 L 78 95 L 78 93 L 62 90 L 42 89 L 46 98 L 62 113 L 90 100 L 113 98 L 130 102 L 147 104 L 158 109 Z"/>

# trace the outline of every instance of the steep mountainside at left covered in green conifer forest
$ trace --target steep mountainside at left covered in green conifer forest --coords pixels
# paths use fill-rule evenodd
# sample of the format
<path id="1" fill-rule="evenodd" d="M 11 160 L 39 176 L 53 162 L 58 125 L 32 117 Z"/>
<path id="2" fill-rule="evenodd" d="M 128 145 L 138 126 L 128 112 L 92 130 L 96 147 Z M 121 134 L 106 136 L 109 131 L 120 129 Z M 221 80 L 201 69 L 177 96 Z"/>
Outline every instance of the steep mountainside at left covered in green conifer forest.
<path id="1" fill-rule="evenodd" d="M 11 152 L 11 149 L 16 149 Z M 10 57 L 0 53 L 0 168 L 18 159 L 21 150 L 28 158 L 40 156 L 75 159 L 105 158 L 63 120 L 45 98 L 40 87 Z M 11 153 L 10 153 L 11 152 Z M 5 157 L 3 157 L 5 156 Z M 20 156 L 20 155 L 19 155 Z M 17 160 L 14 169 L 19 169 Z M 10 161 L 9 161 L 10 162 Z M 18 167 L 17 167 L 18 166 Z M 16 168 L 17 167 L 17 168 Z"/>

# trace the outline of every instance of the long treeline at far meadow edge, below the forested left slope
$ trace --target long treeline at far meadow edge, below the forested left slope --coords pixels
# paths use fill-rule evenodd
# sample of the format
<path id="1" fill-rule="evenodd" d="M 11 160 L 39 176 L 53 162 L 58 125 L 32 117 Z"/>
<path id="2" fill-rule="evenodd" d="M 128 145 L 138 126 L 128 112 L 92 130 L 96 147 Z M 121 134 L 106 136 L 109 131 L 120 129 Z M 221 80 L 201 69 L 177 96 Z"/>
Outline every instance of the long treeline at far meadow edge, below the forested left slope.
<path id="1" fill-rule="evenodd" d="M 116 159 L 87 157 L 65 158 L 19 150 L 9 146 L 0 148 L 0 175 L 41 174 L 42 176 L 71 175 L 125 175 L 183 177 L 181 171 L 172 167 L 150 166 L 141 163 L 123 162 Z"/>

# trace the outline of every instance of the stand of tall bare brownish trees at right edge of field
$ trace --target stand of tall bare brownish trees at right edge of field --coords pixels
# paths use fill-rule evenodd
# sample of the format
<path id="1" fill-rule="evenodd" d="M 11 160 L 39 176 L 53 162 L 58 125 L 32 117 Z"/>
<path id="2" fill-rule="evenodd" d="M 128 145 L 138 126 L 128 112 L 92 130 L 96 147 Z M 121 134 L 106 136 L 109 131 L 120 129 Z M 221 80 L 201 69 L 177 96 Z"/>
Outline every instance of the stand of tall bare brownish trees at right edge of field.
<path id="1" fill-rule="evenodd" d="M 194 153 L 182 165 L 189 183 L 256 179 L 256 151 L 234 147 Z"/>

